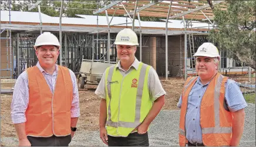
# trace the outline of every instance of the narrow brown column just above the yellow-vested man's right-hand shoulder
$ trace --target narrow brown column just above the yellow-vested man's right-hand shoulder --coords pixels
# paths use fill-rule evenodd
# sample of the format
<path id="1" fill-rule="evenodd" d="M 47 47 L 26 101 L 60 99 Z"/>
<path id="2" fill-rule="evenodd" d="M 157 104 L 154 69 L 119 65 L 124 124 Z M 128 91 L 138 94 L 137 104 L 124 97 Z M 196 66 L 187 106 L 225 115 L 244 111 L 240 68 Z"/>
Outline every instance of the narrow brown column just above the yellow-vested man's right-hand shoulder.
<path id="1" fill-rule="evenodd" d="M 149 64 L 156 70 L 156 37 L 149 38 Z"/>

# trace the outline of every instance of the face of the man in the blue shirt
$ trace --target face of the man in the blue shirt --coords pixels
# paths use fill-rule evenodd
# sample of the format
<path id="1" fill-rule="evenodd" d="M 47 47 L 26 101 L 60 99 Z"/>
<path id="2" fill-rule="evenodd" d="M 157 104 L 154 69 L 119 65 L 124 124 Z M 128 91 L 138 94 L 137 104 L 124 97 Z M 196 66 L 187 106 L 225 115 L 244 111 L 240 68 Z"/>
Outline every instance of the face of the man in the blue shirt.
<path id="1" fill-rule="evenodd" d="M 218 69 L 218 63 L 214 63 L 211 57 L 196 57 L 196 71 L 201 78 L 211 78 Z"/>

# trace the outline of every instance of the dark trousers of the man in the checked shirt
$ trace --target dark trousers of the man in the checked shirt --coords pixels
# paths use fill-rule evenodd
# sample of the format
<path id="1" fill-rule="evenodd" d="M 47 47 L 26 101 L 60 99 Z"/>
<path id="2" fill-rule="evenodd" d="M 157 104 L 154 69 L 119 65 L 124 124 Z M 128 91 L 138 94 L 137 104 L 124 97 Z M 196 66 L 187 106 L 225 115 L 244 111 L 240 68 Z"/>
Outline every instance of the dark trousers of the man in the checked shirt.
<path id="1" fill-rule="evenodd" d="M 68 136 L 50 136 L 50 137 L 33 137 L 27 136 L 31 146 L 69 146 L 71 135 Z"/>

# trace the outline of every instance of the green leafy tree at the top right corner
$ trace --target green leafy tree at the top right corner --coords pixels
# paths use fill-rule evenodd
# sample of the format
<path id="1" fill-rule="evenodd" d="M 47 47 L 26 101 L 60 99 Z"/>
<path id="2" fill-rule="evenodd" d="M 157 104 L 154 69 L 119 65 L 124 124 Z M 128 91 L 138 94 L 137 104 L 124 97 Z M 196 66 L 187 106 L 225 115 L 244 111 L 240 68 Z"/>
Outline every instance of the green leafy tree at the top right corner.
<path id="1" fill-rule="evenodd" d="M 210 39 L 220 49 L 231 52 L 230 57 L 256 69 L 255 65 L 255 1 L 227 1 L 227 11 L 214 7 L 217 29 L 210 31 Z"/>

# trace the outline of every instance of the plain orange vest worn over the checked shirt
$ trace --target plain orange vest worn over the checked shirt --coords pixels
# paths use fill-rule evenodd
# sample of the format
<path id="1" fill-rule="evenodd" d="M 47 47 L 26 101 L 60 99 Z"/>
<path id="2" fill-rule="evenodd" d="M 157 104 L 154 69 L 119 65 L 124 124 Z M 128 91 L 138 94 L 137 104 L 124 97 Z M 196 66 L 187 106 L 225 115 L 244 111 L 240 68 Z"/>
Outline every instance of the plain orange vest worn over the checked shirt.
<path id="1" fill-rule="evenodd" d="M 45 77 L 33 66 L 28 68 L 29 103 L 26 114 L 26 135 L 66 136 L 70 134 L 70 108 L 73 84 L 69 69 L 58 66 L 55 91 L 52 94 Z"/>

